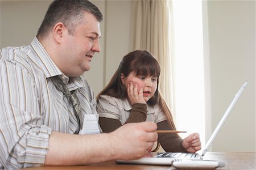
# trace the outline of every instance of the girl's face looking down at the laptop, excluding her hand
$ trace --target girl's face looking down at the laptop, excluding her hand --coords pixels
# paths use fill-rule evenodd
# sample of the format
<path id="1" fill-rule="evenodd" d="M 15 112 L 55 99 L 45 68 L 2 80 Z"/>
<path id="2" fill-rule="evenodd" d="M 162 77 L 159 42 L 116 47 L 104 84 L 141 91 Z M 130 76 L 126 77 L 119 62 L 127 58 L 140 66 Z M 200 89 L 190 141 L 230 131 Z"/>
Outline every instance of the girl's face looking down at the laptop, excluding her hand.
<path id="1" fill-rule="evenodd" d="M 143 98 L 147 102 L 154 96 L 156 88 L 158 86 L 157 76 L 145 76 L 136 75 L 136 73 L 131 72 L 127 77 L 122 78 L 123 85 L 127 89 L 127 84 L 133 82 L 133 84 L 138 84 L 138 91 L 143 88 Z"/>

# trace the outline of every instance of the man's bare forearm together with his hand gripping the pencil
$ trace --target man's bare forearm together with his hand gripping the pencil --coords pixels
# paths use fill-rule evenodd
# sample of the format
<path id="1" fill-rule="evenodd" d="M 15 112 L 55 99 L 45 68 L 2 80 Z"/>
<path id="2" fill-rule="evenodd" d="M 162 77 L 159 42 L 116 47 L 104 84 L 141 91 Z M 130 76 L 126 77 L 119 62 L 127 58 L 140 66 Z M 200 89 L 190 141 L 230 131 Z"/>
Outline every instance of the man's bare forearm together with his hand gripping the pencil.
<path id="1" fill-rule="evenodd" d="M 115 159 L 138 159 L 158 138 L 154 122 L 126 124 L 112 133 L 73 135 L 53 132 L 46 165 L 81 165 Z"/>

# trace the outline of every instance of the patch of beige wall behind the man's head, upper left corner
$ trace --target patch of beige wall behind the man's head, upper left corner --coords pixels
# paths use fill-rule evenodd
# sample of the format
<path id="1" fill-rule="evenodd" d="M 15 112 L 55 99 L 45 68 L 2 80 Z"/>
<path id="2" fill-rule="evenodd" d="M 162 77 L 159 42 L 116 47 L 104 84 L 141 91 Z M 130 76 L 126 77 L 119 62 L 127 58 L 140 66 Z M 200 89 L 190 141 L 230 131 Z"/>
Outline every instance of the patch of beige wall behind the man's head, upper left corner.
<path id="1" fill-rule="evenodd" d="M 0 1 L 1 46 L 30 44 L 51 1 Z"/>

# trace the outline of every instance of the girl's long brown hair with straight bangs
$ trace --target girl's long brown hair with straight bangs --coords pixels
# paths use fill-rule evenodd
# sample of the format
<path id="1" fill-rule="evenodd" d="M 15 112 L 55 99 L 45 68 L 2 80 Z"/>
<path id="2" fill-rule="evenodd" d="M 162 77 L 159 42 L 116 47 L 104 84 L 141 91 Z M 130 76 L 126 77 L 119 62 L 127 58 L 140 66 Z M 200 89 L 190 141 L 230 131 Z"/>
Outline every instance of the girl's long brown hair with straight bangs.
<path id="1" fill-rule="evenodd" d="M 100 95 L 108 95 L 118 99 L 126 99 L 127 91 L 121 81 L 121 74 L 127 77 L 133 71 L 136 75 L 158 77 L 155 95 L 151 97 L 147 103 L 152 106 L 159 104 L 159 107 L 167 117 L 170 128 L 176 129 L 171 111 L 158 90 L 160 75 L 159 62 L 146 50 L 135 50 L 123 57 L 109 84 L 97 95 L 96 99 L 98 99 Z"/>

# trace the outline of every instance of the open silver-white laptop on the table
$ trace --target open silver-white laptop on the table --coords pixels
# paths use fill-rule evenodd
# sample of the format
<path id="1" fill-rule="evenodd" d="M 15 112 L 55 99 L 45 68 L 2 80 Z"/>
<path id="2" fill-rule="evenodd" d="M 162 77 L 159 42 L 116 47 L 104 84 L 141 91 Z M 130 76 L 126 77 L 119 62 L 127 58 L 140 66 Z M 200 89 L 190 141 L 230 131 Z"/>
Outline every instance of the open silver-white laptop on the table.
<path id="1" fill-rule="evenodd" d="M 212 145 L 212 142 L 216 138 L 222 125 L 226 121 L 226 118 L 228 118 L 234 105 L 237 103 L 237 100 L 242 95 L 242 92 L 245 90 L 246 86 L 247 86 L 247 82 L 243 83 L 240 90 L 238 90 L 236 96 L 234 96 L 234 99 L 230 103 L 228 109 L 222 116 L 220 122 L 218 122 L 218 125 L 216 126 L 216 128 L 214 129 L 208 142 L 204 146 L 202 154 L 188 153 L 188 152 L 149 152 L 147 155 L 143 156 L 140 159 L 115 160 L 115 163 L 118 163 L 118 164 L 173 165 L 172 164 L 173 162 L 181 162 L 182 160 L 203 160 L 205 153 L 209 150 L 210 146 Z"/>

